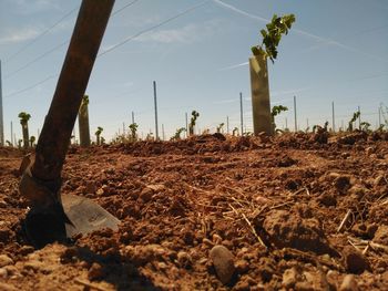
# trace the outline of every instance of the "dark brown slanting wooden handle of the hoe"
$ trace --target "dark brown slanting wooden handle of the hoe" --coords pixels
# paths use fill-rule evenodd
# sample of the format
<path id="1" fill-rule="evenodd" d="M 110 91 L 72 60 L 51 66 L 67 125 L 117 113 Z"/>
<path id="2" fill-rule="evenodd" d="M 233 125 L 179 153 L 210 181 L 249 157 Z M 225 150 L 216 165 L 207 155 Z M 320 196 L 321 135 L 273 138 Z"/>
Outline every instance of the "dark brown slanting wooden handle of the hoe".
<path id="1" fill-rule="evenodd" d="M 76 114 L 113 4 L 114 0 L 82 1 L 55 93 L 35 149 L 32 175 L 42 181 L 61 178 Z M 57 193 L 59 189 L 51 190 Z"/>

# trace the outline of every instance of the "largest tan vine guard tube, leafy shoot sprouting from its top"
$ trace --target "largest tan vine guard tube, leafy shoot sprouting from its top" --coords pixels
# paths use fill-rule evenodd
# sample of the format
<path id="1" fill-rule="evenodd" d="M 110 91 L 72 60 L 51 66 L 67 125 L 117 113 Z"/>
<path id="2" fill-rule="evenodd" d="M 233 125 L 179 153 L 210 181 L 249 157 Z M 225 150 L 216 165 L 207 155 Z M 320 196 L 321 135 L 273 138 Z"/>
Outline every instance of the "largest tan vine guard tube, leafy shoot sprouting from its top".
<path id="1" fill-rule="evenodd" d="M 249 71 L 254 134 L 273 135 L 266 58 L 249 58 Z"/>

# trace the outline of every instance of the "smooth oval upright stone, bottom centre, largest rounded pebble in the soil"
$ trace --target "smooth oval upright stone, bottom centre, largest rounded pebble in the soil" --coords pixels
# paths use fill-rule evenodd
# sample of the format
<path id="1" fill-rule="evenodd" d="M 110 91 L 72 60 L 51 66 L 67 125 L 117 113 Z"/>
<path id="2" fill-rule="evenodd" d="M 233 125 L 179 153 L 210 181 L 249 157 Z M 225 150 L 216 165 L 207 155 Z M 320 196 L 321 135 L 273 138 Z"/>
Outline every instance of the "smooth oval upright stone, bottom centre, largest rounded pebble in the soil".
<path id="1" fill-rule="evenodd" d="M 231 282 L 234 272 L 234 256 L 224 246 L 215 246 L 210 252 L 210 258 L 213 261 L 215 272 L 223 284 Z"/>

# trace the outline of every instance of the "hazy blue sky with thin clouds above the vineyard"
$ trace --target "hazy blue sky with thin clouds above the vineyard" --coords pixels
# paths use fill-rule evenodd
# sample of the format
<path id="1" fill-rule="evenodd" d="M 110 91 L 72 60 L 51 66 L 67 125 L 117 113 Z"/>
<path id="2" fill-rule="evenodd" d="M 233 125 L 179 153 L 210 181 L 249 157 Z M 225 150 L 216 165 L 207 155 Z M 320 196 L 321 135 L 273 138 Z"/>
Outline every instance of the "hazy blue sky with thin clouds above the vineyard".
<path id="1" fill-rule="evenodd" d="M 4 136 L 10 124 L 21 137 L 18 114 L 31 114 L 38 135 L 55 90 L 80 0 L 0 0 L 0 60 Z M 106 141 L 127 131 L 134 112 L 139 134 L 169 139 L 185 126 L 185 113 L 200 113 L 197 131 L 229 121 L 239 127 L 239 93 L 245 131 L 252 132 L 248 59 L 273 14 L 294 13 L 278 58 L 268 62 L 272 105 L 289 110 L 277 127 L 347 124 L 360 106 L 374 127 L 378 107 L 388 106 L 388 1 L 386 0 L 116 0 L 86 94 L 94 137 Z M 388 117 L 388 116 L 387 116 Z M 78 125 L 75 134 L 78 136 Z"/>

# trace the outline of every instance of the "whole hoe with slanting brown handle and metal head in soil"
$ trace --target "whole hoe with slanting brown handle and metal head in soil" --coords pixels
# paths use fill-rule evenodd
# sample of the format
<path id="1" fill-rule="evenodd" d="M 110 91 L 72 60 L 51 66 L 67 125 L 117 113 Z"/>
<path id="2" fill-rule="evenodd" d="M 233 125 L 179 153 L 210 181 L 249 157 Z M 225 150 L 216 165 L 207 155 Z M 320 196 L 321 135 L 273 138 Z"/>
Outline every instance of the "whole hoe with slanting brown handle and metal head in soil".
<path id="1" fill-rule="evenodd" d="M 35 156 L 27 156 L 21 165 L 19 190 L 30 208 L 22 227 L 35 248 L 102 228 L 116 230 L 120 222 L 91 199 L 60 194 L 71 133 L 113 4 L 82 1 Z"/>

